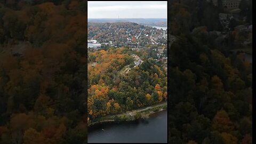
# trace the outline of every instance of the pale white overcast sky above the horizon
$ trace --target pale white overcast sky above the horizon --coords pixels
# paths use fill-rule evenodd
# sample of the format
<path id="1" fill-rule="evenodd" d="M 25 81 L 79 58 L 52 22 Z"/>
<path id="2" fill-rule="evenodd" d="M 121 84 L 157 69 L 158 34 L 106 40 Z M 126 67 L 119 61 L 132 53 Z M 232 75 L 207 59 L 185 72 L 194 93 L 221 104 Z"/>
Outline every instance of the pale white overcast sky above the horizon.
<path id="1" fill-rule="evenodd" d="M 88 18 L 167 18 L 167 1 L 88 1 Z"/>

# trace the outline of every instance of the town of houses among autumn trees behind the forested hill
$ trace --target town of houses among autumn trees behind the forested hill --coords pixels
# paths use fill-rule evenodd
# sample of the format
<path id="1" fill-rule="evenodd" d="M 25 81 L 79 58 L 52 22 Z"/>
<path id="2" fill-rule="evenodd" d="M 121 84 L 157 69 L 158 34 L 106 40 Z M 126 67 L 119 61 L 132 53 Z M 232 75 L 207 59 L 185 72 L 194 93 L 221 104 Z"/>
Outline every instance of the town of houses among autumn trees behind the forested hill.
<path id="1" fill-rule="evenodd" d="M 147 44 L 158 44 L 165 41 L 167 43 L 167 30 L 165 29 L 132 25 L 131 23 L 126 23 L 126 25 L 124 23 L 121 25 L 118 25 L 118 23 L 97 25 L 97 30 L 94 30 L 93 25 L 90 27 L 92 28 L 88 31 L 89 38 L 97 39 L 88 41 L 88 43 L 92 44 L 99 43 L 114 47 L 142 48 Z M 91 44 L 90 46 L 92 47 Z"/>

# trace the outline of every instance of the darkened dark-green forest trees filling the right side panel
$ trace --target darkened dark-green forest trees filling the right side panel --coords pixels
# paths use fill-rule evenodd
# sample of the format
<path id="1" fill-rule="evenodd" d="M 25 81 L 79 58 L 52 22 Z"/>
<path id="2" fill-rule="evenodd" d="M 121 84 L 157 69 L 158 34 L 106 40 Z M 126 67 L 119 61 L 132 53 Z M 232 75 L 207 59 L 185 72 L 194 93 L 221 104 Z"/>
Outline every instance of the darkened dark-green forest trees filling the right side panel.
<path id="1" fill-rule="evenodd" d="M 235 27 L 251 25 L 245 2 L 249 14 L 243 20 L 242 9 Z M 241 44 L 252 31 L 224 31 L 221 12 L 206 1 L 169 2 L 169 34 L 177 37 L 168 50 L 170 143 L 252 143 L 252 64 L 232 52 L 252 50 Z"/>

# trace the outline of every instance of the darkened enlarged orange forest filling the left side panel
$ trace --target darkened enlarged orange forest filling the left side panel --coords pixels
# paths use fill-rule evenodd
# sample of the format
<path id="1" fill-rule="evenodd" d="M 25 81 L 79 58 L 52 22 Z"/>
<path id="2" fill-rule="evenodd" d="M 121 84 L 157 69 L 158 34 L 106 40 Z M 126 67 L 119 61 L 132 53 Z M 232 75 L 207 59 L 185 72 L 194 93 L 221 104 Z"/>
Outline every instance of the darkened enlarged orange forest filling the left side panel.
<path id="1" fill-rule="evenodd" d="M 0 2 L 0 143 L 87 143 L 87 1 Z"/>

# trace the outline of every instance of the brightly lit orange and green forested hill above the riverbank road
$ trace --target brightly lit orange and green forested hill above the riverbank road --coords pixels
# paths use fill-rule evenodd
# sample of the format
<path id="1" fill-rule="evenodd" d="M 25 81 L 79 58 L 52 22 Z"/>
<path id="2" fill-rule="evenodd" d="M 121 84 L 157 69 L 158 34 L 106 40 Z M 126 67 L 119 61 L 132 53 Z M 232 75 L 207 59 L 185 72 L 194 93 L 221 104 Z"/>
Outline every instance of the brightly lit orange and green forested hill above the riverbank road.
<path id="1" fill-rule="evenodd" d="M 88 62 L 89 122 L 167 100 L 167 70 L 149 49 L 89 51 Z"/>

